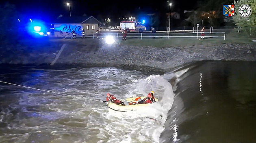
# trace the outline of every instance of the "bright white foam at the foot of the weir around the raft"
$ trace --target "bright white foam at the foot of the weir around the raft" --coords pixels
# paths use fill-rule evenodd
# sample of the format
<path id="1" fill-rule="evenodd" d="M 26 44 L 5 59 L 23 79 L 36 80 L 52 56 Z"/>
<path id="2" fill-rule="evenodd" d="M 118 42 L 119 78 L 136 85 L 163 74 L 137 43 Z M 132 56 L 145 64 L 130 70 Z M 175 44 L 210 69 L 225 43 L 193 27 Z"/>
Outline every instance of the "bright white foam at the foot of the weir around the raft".
<path id="1" fill-rule="evenodd" d="M 133 81 L 132 87 L 126 95 L 127 98 L 147 96 L 151 90 L 154 90 L 154 97 L 159 101 L 138 111 L 126 112 L 125 114 L 108 113 L 106 118 L 112 120 L 111 124 L 115 123 L 116 126 L 123 126 L 123 128 L 131 130 L 126 132 L 126 136 L 120 134 L 121 141 L 159 142 L 161 132 L 164 130 L 163 125 L 167 119 L 167 113 L 174 101 L 174 93 L 171 84 L 168 82 L 173 76 L 174 74 L 151 75 L 146 79 Z M 117 125 L 117 121 L 113 122 L 115 117 L 119 125 Z M 116 126 L 113 126 L 112 129 L 116 130 Z M 119 132 L 117 132 L 117 135 L 119 136 Z M 109 141 L 114 141 L 116 137 L 109 139 Z"/>

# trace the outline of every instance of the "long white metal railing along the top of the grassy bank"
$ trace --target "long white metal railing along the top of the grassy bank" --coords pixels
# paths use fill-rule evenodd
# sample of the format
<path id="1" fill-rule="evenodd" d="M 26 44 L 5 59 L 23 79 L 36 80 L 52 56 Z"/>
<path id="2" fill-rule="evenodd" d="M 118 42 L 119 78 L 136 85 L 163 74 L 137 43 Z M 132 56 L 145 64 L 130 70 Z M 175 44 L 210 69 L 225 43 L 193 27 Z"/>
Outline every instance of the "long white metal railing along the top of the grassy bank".
<path id="1" fill-rule="evenodd" d="M 105 36 L 113 36 L 117 39 L 122 38 L 124 34 L 122 33 L 100 33 L 98 35 L 99 38 Z M 73 36 L 70 35 L 70 38 Z M 91 36 L 85 36 L 85 38 L 96 38 L 96 34 L 92 34 Z M 225 32 L 204 32 L 205 38 L 226 38 Z M 77 36 L 76 38 L 82 38 L 81 36 Z M 138 38 L 138 39 L 145 39 L 145 38 L 201 38 L 201 32 L 183 32 L 183 33 L 172 33 L 172 32 L 157 32 L 157 33 L 128 33 L 126 38 Z"/>

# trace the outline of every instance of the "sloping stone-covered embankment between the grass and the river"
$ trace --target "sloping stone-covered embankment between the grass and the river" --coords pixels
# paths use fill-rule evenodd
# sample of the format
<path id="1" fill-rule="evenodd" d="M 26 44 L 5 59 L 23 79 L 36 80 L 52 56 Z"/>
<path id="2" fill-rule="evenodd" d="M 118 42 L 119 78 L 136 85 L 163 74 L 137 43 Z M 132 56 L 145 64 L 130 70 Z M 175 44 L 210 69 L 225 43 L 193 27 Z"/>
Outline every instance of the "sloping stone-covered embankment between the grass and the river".
<path id="1" fill-rule="evenodd" d="M 127 41 L 126 41 L 127 42 Z M 61 47 L 65 44 L 61 53 Z M 165 72 L 196 61 L 256 61 L 255 44 L 219 44 L 213 46 L 128 46 L 120 41 L 106 45 L 102 40 L 82 42 L 31 42 L 16 47 L 0 47 L 0 64 L 84 65 L 121 67 L 139 71 Z M 58 55 L 58 59 L 56 56 Z M 54 66 L 54 65 L 53 65 Z"/>

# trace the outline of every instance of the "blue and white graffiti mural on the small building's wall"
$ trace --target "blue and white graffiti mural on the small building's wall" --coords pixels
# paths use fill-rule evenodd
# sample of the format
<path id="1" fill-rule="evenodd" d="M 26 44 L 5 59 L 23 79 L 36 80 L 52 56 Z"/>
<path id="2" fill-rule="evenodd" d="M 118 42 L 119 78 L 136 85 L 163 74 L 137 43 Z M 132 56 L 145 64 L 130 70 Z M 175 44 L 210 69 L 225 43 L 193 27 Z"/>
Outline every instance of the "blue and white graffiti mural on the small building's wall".
<path id="1" fill-rule="evenodd" d="M 76 36 L 82 36 L 82 25 L 54 24 L 55 37 L 70 37 L 73 30 L 76 32 Z"/>

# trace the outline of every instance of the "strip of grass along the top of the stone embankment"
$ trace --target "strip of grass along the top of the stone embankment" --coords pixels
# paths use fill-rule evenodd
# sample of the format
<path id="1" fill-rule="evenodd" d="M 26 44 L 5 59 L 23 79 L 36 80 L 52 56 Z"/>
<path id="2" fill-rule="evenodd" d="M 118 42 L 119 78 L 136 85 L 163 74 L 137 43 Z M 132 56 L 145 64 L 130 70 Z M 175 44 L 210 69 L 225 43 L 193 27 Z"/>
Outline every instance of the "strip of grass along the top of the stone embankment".
<path id="1" fill-rule="evenodd" d="M 226 32 L 226 39 L 224 38 L 205 38 L 204 40 L 200 39 L 201 34 L 199 34 L 198 39 L 195 37 L 156 37 L 155 39 L 145 37 L 143 39 L 140 38 L 130 38 L 128 37 L 126 41 L 121 40 L 122 38 L 119 37 L 115 46 L 154 46 L 154 47 L 168 47 L 168 46 L 176 46 L 176 47 L 189 47 L 189 46 L 213 46 L 225 43 L 238 43 L 238 44 L 255 44 L 256 42 L 252 42 L 251 39 L 256 38 L 248 38 L 247 36 L 243 36 L 243 34 L 237 33 L 236 30 L 232 32 Z M 62 44 L 67 43 L 69 45 L 74 45 L 73 47 L 99 47 L 99 44 L 102 44 L 104 40 L 99 39 L 27 39 L 27 40 L 20 40 L 20 44 L 28 47 L 51 47 L 53 45 L 57 47 L 61 47 Z M 91 46 L 93 45 L 93 46 Z M 47 48 L 46 48 L 47 49 Z"/>

